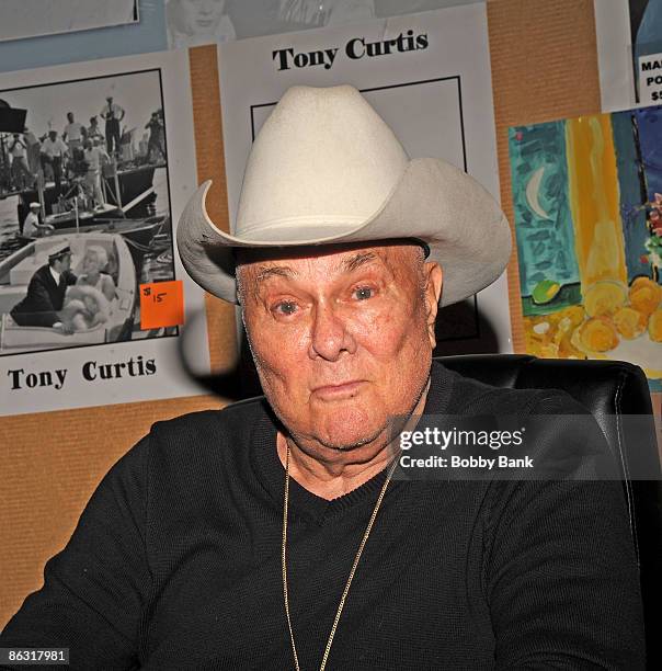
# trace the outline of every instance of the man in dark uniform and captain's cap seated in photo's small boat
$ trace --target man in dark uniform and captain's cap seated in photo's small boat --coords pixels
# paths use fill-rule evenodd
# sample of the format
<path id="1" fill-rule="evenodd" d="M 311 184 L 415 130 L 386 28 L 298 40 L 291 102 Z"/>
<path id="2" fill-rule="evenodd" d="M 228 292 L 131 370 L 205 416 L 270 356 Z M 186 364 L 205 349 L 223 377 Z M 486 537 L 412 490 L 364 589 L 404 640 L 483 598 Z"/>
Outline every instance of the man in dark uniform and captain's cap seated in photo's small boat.
<path id="1" fill-rule="evenodd" d="M 23 300 L 11 309 L 13 320 L 19 326 L 52 327 L 71 332 L 57 314 L 65 304 L 67 287 L 76 284 L 77 276 L 70 269 L 71 249 L 68 244 L 48 254 L 48 263 L 31 277 Z"/>

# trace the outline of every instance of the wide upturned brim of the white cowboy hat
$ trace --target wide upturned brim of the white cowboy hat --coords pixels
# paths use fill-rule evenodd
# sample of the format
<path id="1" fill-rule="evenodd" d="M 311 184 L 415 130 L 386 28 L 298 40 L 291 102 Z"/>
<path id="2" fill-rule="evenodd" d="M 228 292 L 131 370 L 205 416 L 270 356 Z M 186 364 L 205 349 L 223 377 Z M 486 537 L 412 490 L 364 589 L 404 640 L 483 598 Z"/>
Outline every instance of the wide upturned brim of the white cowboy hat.
<path id="1" fill-rule="evenodd" d="M 494 198 L 473 178 L 432 158 L 409 161 L 379 209 L 364 221 L 323 218 L 271 221 L 251 236 L 220 230 L 207 215 L 210 181 L 189 201 L 178 226 L 178 248 L 186 272 L 204 289 L 238 303 L 232 248 L 298 247 L 418 238 L 430 261 L 444 271 L 441 306 L 481 291 L 503 272 L 511 231 Z M 315 235 L 312 235 L 315 234 Z"/>

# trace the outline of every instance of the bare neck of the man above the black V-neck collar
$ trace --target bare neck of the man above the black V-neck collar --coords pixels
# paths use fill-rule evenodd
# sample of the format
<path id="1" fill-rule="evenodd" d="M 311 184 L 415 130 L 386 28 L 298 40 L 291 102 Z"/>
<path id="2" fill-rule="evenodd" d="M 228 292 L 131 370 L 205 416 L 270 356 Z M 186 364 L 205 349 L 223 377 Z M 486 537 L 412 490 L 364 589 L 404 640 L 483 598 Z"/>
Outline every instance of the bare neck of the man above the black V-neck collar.
<path id="1" fill-rule="evenodd" d="M 413 428 L 418 423 L 425 408 L 429 389 L 430 380 L 403 429 Z M 361 487 L 387 467 L 397 450 L 392 447 L 392 442 L 389 442 L 388 437 L 383 437 L 381 442 L 381 447 L 377 448 L 375 455 L 367 460 L 356 459 L 355 451 L 347 451 L 346 459 L 331 463 L 323 462 L 306 452 L 297 445 L 292 436 L 278 431 L 276 451 L 283 467 L 285 467 L 287 448 L 289 447 L 290 477 L 311 493 L 331 501 Z"/>

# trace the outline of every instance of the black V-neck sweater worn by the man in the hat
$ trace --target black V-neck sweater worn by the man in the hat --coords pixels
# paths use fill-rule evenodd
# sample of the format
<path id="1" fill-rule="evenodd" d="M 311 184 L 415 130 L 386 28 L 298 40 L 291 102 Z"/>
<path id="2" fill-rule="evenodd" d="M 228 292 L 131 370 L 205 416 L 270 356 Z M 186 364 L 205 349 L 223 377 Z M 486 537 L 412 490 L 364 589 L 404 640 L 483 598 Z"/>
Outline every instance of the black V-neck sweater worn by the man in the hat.
<path id="1" fill-rule="evenodd" d="M 509 411 L 578 408 L 433 365 L 426 412 Z M 155 424 L 101 482 L 0 647 L 69 647 L 72 669 L 292 669 L 275 433 L 260 399 Z M 384 477 L 333 501 L 290 481 L 303 671 L 319 669 Z M 631 671 L 642 650 L 619 482 L 393 480 L 327 668 Z"/>

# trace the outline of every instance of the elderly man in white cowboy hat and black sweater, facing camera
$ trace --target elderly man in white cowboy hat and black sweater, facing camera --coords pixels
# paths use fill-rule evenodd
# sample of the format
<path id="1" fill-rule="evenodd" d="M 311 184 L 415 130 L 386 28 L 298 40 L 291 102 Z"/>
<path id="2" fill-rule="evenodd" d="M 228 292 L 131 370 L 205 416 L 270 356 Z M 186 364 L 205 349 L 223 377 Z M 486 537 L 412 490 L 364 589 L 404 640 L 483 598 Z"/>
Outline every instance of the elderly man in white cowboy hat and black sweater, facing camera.
<path id="1" fill-rule="evenodd" d="M 241 304 L 265 398 L 156 424 L 0 646 L 69 647 L 77 669 L 641 669 L 618 482 L 398 473 L 393 421 L 547 414 L 538 454 L 580 446 L 561 393 L 432 364 L 437 306 L 507 260 L 491 196 L 410 161 L 350 87 L 284 95 L 233 235 L 207 187 L 180 253 Z"/>

